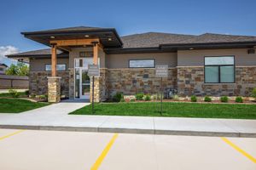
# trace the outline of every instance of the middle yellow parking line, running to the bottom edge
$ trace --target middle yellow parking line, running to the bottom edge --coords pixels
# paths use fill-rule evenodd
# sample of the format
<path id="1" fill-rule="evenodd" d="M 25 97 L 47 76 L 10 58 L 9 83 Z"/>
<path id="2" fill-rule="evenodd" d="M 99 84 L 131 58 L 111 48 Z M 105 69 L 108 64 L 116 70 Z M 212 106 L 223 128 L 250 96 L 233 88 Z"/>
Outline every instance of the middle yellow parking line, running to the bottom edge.
<path id="1" fill-rule="evenodd" d="M 90 170 L 97 170 L 97 169 L 100 167 L 100 165 L 101 165 L 103 159 L 105 158 L 105 156 L 107 156 L 108 151 L 110 150 L 111 146 L 113 145 L 115 139 L 117 139 L 118 135 L 119 135 L 118 133 L 114 133 L 114 134 L 113 134 L 112 139 L 108 142 L 108 145 L 107 145 L 107 146 L 105 147 L 105 149 L 102 151 L 101 156 L 98 157 L 98 159 L 96 160 L 96 162 L 94 163 L 94 165 L 93 165 L 92 167 L 90 167 Z"/>

